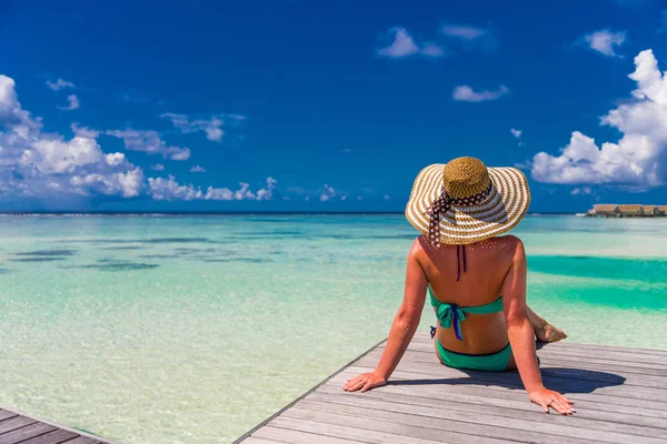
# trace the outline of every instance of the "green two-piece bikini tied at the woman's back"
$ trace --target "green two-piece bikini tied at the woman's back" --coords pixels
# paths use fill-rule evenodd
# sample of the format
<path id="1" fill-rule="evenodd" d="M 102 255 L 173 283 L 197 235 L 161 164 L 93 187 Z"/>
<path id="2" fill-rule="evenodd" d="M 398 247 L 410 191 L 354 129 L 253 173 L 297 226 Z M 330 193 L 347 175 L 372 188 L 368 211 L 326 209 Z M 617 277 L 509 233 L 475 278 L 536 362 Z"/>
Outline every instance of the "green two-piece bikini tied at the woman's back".
<path id="1" fill-rule="evenodd" d="M 464 256 L 465 258 L 465 256 Z M 464 265 L 465 266 L 465 265 Z M 478 306 L 458 306 L 457 304 L 447 304 L 438 301 L 428 286 L 431 305 L 438 310 L 438 320 L 444 329 L 454 327 L 456 337 L 459 341 L 464 340 L 461 334 L 461 321 L 466 320 L 466 313 L 470 314 L 490 314 L 502 311 L 502 296 L 486 305 Z M 501 372 L 507 369 L 507 364 L 511 356 L 511 346 L 507 344 L 505 349 L 491 354 L 465 354 L 447 350 L 436 340 L 438 354 L 445 365 L 456 369 L 485 370 L 488 372 Z"/>

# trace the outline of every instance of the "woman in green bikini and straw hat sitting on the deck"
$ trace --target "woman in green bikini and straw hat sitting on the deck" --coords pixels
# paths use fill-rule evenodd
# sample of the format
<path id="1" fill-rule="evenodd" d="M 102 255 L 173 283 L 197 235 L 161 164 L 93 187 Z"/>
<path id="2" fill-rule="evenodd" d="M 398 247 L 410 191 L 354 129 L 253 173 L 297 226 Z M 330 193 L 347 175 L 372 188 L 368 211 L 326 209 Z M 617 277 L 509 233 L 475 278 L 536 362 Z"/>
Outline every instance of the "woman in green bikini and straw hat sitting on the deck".
<path id="1" fill-rule="evenodd" d="M 548 413 L 575 412 L 567 397 L 542 385 L 535 337 L 566 335 L 526 305 L 526 252 L 512 235 L 530 203 L 528 182 L 515 168 L 489 168 L 478 159 L 434 164 L 417 175 L 406 208 L 424 235 L 408 255 L 405 297 L 377 369 L 348 380 L 346 391 L 384 385 L 417 326 L 428 291 L 440 321 L 436 353 L 457 369 L 518 369 L 531 402 Z"/>

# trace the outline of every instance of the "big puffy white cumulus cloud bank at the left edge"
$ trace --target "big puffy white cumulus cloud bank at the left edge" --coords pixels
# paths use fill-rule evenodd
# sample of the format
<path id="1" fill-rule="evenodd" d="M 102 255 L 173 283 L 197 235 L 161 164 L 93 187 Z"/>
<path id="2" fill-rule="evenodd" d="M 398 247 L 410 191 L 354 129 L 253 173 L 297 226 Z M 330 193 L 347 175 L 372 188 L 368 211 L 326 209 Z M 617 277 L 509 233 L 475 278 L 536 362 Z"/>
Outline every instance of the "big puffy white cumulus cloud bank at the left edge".
<path id="1" fill-rule="evenodd" d="M 69 140 L 43 132 L 41 119 L 21 107 L 13 79 L 1 74 L 0 128 L 0 194 L 132 198 L 142 190 L 141 169 L 122 153 L 106 154 L 97 131 L 74 123 Z"/>

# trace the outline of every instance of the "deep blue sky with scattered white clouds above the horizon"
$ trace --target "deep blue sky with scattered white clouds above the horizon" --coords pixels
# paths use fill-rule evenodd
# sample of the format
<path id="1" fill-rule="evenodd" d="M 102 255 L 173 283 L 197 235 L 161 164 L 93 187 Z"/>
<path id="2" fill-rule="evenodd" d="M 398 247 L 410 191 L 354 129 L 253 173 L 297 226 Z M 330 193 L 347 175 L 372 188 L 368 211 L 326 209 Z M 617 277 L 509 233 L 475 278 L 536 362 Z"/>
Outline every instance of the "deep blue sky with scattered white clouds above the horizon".
<path id="1" fill-rule="evenodd" d="M 402 211 L 520 168 L 531 212 L 667 203 L 667 2 L 0 0 L 0 211 Z"/>

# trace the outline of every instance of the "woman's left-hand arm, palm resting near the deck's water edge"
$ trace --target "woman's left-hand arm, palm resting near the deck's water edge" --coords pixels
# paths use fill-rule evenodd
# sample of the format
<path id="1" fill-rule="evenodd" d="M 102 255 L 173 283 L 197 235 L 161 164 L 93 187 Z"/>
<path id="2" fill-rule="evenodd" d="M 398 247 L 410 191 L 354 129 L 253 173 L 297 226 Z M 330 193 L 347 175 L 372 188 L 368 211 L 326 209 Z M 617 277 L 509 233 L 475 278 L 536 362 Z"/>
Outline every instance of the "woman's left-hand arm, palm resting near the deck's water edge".
<path id="1" fill-rule="evenodd" d="M 384 385 L 412 340 L 415 331 L 419 325 L 424 301 L 426 300 L 427 281 L 418 260 L 420 251 L 421 245 L 417 240 L 408 254 L 404 301 L 400 309 L 398 309 L 396 317 L 394 317 L 389 337 L 387 339 L 387 346 L 378 366 L 372 373 L 361 373 L 348 380 L 342 390 L 355 392 L 361 389 L 361 392 L 366 392 L 378 385 Z"/>

